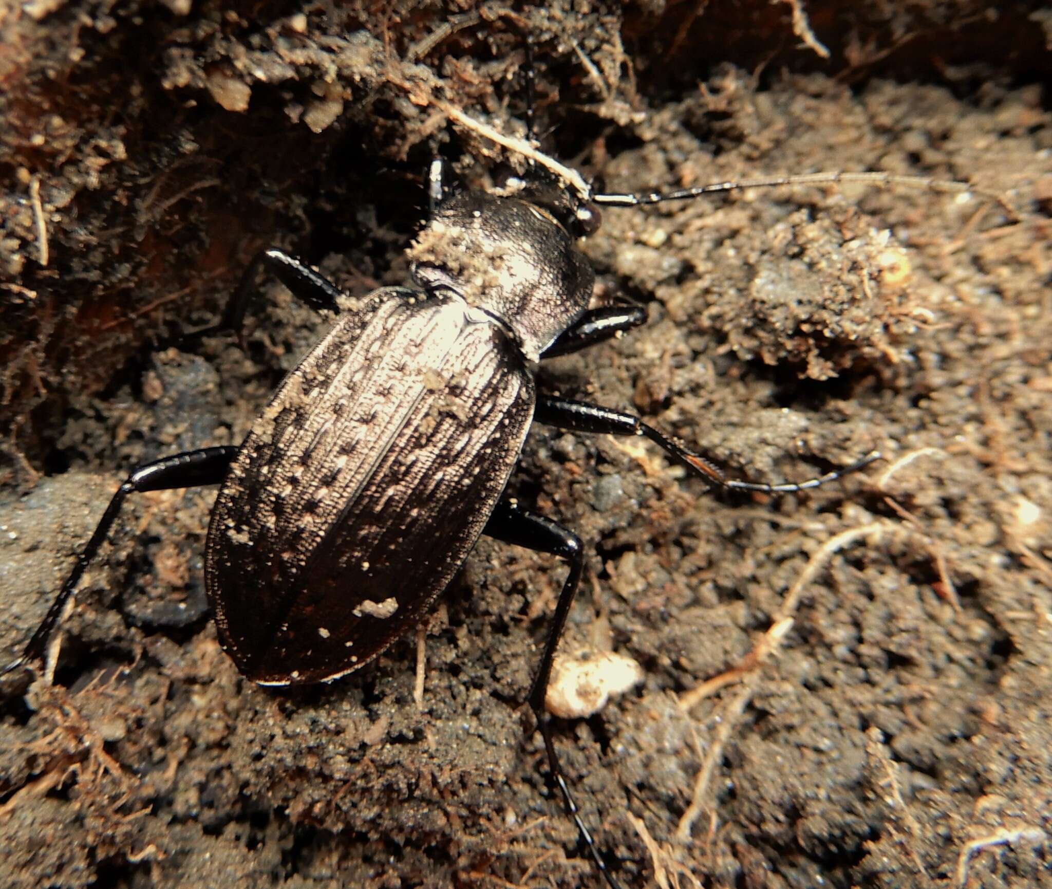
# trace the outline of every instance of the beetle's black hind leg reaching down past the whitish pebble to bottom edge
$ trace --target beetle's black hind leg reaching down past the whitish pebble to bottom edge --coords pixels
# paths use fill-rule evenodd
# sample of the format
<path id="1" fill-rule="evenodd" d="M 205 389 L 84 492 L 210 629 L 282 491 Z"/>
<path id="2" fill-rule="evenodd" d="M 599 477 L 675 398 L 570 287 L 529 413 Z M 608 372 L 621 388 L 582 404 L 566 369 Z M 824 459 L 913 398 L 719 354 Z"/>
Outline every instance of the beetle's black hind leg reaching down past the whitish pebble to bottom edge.
<path id="1" fill-rule="evenodd" d="M 567 530 L 550 519 L 519 509 L 507 500 L 503 500 L 497 505 L 483 533 L 504 543 L 523 546 L 526 549 L 532 549 L 537 552 L 550 552 L 569 565 L 570 571 L 566 575 L 566 580 L 563 583 L 563 590 L 559 594 L 555 614 L 551 621 L 551 629 L 548 631 L 548 639 L 544 644 L 544 653 L 541 655 L 541 664 L 538 667 L 533 684 L 530 686 L 527 703 L 533 711 L 533 716 L 537 719 L 537 727 L 544 739 L 544 748 L 548 754 L 548 768 L 551 771 L 551 777 L 559 785 L 563 803 L 566 805 L 566 810 L 578 827 L 581 842 L 585 844 L 588 853 L 606 878 L 610 889 L 622 889 L 616 877 L 607 868 L 606 861 L 603 858 L 599 847 L 595 845 L 595 841 L 585 826 L 576 803 L 573 802 L 570 788 L 566 783 L 562 766 L 559 763 L 559 755 L 555 753 L 555 745 L 551 736 L 551 720 L 544 707 L 544 700 L 548 693 L 548 681 L 551 679 L 552 659 L 559 646 L 559 640 L 563 634 L 563 628 L 566 626 L 566 618 L 570 613 L 570 606 L 573 604 L 573 597 L 578 591 L 578 585 L 581 583 L 581 572 L 584 567 L 581 540 L 572 531 Z"/>

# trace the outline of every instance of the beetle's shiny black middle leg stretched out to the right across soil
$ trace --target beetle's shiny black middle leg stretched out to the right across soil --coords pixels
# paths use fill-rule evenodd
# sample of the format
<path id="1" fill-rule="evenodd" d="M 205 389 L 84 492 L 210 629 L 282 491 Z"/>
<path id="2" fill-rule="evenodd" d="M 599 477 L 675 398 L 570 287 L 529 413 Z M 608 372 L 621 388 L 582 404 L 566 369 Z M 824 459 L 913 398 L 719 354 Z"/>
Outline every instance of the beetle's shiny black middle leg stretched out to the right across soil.
<path id="1" fill-rule="evenodd" d="M 611 410 L 607 407 L 600 407 L 598 404 L 588 404 L 582 401 L 541 397 L 538 399 L 533 419 L 547 426 L 558 426 L 561 429 L 569 429 L 574 432 L 644 436 L 650 439 L 669 457 L 674 458 L 688 469 L 701 476 L 711 487 L 721 490 L 791 493 L 793 491 L 807 490 L 808 488 L 816 488 L 820 485 L 826 484 L 826 482 L 841 479 L 850 472 L 868 466 L 874 460 L 881 459 L 881 452 L 873 450 L 848 466 L 826 472 L 825 476 L 807 479 L 803 482 L 776 482 L 773 484 L 743 482 L 737 479 L 728 479 L 712 460 L 691 450 L 677 439 L 666 436 L 653 426 L 648 426 L 639 417 L 631 413 Z"/>

